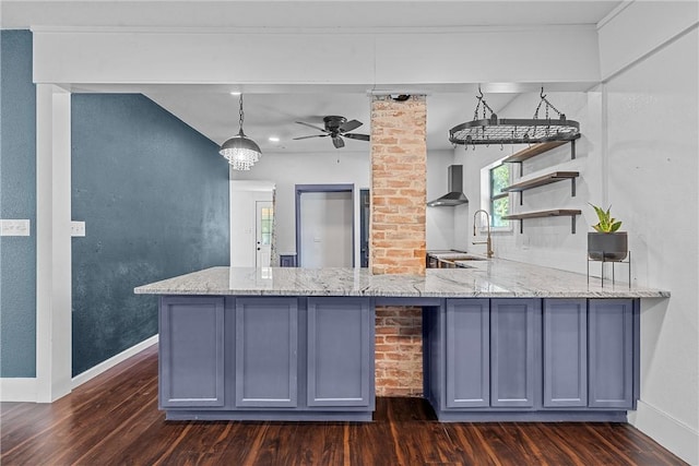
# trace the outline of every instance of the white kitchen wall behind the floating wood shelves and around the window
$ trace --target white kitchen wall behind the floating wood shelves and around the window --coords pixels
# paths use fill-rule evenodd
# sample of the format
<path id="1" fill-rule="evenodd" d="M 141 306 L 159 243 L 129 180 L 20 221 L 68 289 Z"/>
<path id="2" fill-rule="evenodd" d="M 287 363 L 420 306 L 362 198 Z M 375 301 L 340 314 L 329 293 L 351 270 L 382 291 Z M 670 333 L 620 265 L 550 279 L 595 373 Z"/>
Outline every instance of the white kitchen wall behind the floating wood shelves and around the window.
<path id="1" fill-rule="evenodd" d="M 493 234 L 493 250 L 496 258 L 511 259 L 521 262 L 568 268 L 585 273 L 587 270 L 587 231 L 592 225 L 594 212 L 587 204 L 591 191 L 599 191 L 599 176 L 595 174 L 595 160 L 592 154 L 594 141 L 590 140 L 588 129 L 590 122 L 599 120 L 599 116 L 589 116 L 588 93 L 546 93 L 548 100 L 567 118 L 580 122 L 582 138 L 576 141 L 576 159 L 570 158 L 570 144 L 556 147 L 547 153 L 524 162 L 524 178 L 536 177 L 545 172 L 565 170 L 580 171 L 576 181 L 577 195 L 572 198 L 570 182 L 558 182 L 524 192 L 523 205 L 519 205 L 519 194 L 510 195 L 513 212 L 547 211 L 552 208 L 580 208 L 582 216 L 577 218 L 577 234 L 571 234 L 570 217 L 532 218 L 524 220 L 524 232 L 520 234 L 519 222 L 511 222 L 511 230 Z M 594 95 L 592 95 L 594 98 Z M 505 107 L 500 118 L 531 118 L 538 105 L 538 93 L 523 94 Z M 555 116 L 553 110 L 549 115 Z M 540 118 L 544 117 L 543 109 Z M 596 134 L 596 132 L 592 132 Z M 469 208 L 462 208 L 454 218 L 455 229 L 465 235 L 457 236 L 457 246 L 462 249 L 485 253 L 485 246 L 473 244 L 473 214 L 482 206 L 481 169 L 498 159 L 507 157 L 525 145 L 478 145 L 475 150 L 459 146 L 454 151 L 454 162 L 464 166 L 465 194 Z M 592 165 L 592 168 L 590 167 Z M 519 176 L 520 167 L 511 164 L 510 169 Z M 486 201 L 487 202 L 487 201 Z M 489 211 L 489 208 L 485 207 Z M 482 241 L 483 238 L 476 238 Z"/>

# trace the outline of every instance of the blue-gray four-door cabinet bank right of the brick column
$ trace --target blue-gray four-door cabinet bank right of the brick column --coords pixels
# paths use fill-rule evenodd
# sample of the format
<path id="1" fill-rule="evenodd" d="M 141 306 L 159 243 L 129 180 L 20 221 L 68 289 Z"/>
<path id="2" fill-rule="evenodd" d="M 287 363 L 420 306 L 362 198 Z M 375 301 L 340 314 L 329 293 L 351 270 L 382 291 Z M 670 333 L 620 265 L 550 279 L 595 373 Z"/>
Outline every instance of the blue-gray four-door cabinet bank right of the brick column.
<path id="1" fill-rule="evenodd" d="M 638 398 L 632 299 L 447 299 L 423 312 L 425 396 L 449 421 L 624 421 Z"/>

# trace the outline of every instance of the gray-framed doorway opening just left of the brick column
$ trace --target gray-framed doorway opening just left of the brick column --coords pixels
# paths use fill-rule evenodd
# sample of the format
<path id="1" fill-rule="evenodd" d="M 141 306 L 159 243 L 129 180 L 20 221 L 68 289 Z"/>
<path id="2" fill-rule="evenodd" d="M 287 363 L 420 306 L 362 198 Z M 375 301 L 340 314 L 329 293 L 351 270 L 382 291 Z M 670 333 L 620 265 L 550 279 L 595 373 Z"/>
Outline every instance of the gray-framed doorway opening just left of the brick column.
<path id="1" fill-rule="evenodd" d="M 296 253 L 299 267 L 354 266 L 354 184 L 296 186 Z"/>

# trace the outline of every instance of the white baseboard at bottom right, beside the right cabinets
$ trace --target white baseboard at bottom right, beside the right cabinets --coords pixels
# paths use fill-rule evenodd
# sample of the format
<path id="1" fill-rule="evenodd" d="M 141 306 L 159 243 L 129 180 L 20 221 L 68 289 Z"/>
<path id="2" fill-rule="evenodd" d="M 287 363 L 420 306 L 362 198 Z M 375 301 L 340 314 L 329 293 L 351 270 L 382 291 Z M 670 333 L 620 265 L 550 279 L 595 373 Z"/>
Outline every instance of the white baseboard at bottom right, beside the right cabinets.
<path id="1" fill-rule="evenodd" d="M 699 465 L 699 431 L 642 401 L 629 421 L 683 461 Z"/>

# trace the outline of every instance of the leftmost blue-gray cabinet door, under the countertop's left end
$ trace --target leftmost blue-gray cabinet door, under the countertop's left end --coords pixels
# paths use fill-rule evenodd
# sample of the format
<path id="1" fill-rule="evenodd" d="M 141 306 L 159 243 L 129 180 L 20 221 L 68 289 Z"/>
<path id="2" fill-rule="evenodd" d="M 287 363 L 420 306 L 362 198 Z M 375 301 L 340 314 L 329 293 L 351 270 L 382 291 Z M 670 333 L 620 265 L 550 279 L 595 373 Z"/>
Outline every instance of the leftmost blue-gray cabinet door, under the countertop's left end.
<path id="1" fill-rule="evenodd" d="M 161 407 L 223 406 L 223 298 L 164 297 L 159 324 Z"/>

